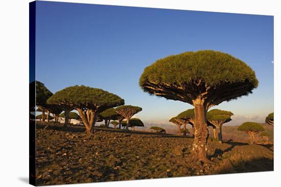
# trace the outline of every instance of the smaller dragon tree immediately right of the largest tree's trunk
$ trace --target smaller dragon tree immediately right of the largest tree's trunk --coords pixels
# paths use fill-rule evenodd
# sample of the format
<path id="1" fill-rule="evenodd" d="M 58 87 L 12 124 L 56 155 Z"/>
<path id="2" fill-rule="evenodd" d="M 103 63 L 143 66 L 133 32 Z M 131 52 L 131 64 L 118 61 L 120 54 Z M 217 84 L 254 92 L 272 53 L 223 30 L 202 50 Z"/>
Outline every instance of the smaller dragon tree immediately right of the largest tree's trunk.
<path id="1" fill-rule="evenodd" d="M 207 120 L 215 129 L 215 137 L 222 141 L 222 125 L 231 121 L 232 112 L 213 109 L 207 112 Z"/>

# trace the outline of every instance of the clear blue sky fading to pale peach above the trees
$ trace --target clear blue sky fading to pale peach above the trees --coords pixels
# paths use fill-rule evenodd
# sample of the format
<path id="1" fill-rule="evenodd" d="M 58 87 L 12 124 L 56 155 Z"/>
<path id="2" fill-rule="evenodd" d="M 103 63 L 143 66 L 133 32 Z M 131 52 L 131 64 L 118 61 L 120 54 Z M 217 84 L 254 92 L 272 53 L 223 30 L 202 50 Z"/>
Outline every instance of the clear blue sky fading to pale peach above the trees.
<path id="1" fill-rule="evenodd" d="M 159 58 L 212 49 L 246 62 L 253 94 L 214 107 L 229 124 L 264 122 L 273 112 L 273 16 L 38 2 L 36 79 L 53 93 L 74 85 L 101 88 L 138 105 L 136 116 L 168 123 L 192 105 L 144 93 L 138 79 Z"/>

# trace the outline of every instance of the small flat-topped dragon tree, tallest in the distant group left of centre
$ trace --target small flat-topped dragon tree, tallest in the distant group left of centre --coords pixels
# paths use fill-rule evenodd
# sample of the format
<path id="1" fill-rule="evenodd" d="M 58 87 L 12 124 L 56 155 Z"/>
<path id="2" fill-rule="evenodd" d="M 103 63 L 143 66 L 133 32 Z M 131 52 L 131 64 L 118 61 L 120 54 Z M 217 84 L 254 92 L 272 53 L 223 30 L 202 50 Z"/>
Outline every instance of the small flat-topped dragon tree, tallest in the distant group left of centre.
<path id="1" fill-rule="evenodd" d="M 120 114 L 126 119 L 126 130 L 129 130 L 129 121 L 133 115 L 139 113 L 143 109 L 139 106 L 123 105 L 115 109 L 115 112 Z"/>

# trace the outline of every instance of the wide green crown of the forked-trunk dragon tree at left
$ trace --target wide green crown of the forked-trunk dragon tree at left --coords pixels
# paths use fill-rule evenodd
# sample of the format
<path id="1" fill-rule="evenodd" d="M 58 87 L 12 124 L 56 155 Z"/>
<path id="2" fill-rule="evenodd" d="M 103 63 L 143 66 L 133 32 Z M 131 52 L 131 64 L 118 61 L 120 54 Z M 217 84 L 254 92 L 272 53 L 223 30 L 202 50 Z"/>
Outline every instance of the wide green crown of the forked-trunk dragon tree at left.
<path id="1" fill-rule="evenodd" d="M 56 92 L 48 99 L 47 103 L 103 111 L 108 108 L 123 105 L 124 99 L 102 89 L 76 85 Z M 97 106 L 99 107 L 97 108 Z"/>

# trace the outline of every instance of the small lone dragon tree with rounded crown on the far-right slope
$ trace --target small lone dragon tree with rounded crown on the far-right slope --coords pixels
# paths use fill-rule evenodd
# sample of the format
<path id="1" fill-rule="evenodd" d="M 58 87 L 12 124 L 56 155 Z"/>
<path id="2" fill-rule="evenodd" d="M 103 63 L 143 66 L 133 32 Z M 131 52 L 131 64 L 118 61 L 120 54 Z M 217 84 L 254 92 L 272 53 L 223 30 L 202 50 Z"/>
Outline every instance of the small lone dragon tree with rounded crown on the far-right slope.
<path id="1" fill-rule="evenodd" d="M 240 125 L 237 130 L 248 133 L 250 136 L 250 144 L 253 144 L 254 138 L 256 135 L 262 131 L 264 131 L 264 127 L 260 123 L 255 122 L 245 122 Z"/>

